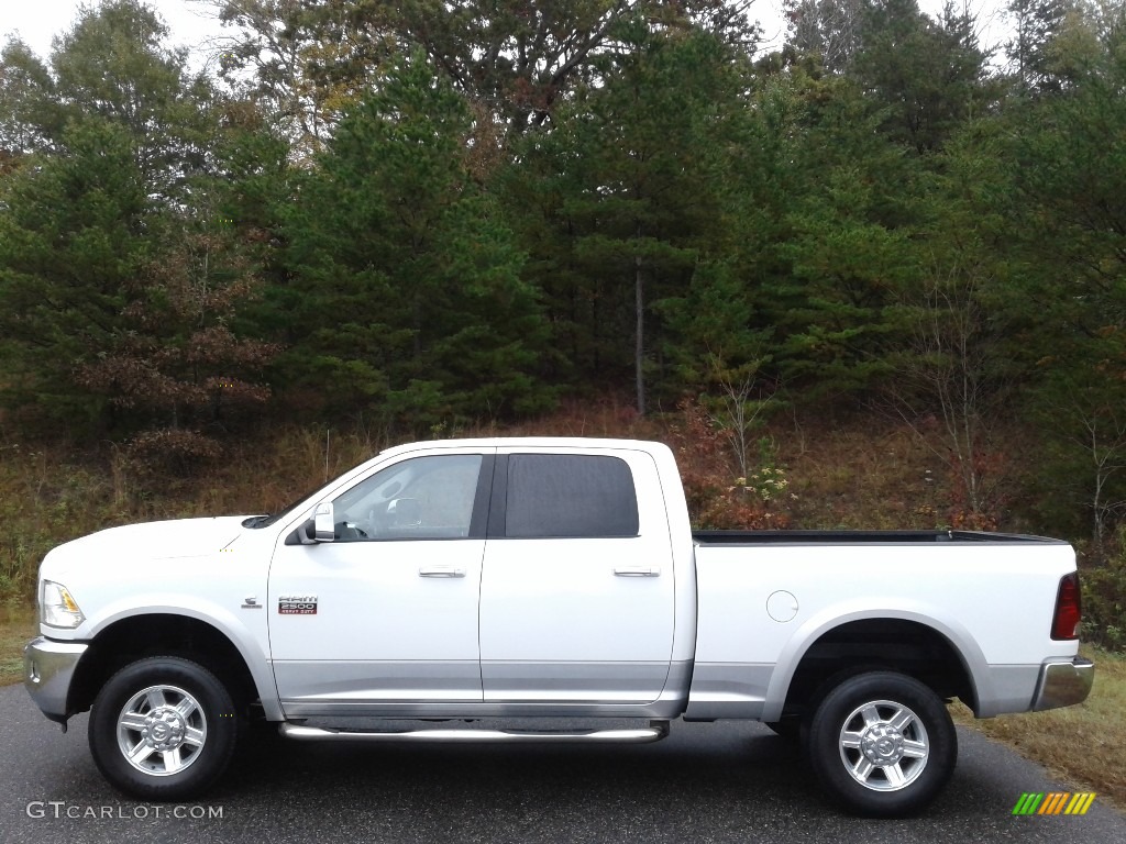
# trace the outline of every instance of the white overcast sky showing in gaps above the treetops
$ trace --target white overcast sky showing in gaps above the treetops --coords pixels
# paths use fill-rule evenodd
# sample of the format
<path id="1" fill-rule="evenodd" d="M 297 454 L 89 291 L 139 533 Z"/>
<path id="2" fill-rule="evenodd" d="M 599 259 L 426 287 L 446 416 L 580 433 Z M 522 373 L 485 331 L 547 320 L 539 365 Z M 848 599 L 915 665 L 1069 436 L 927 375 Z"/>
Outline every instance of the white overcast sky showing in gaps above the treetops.
<path id="1" fill-rule="evenodd" d="M 983 47 L 993 46 L 1003 39 L 1003 24 L 998 9 L 1004 6 L 1004 0 L 960 1 L 968 5 L 969 11 L 977 14 L 978 36 Z M 196 48 L 193 53 L 193 66 L 202 66 L 207 56 L 207 51 L 203 48 L 207 39 L 224 35 L 209 3 L 205 0 L 146 2 L 164 18 L 171 30 L 172 45 Z M 7 41 L 9 35 L 18 32 L 32 50 L 46 59 L 51 52 L 52 36 L 70 28 L 81 5 L 80 0 L 0 0 L 0 41 Z M 941 9 L 942 0 L 920 0 L 920 6 L 923 11 L 935 15 Z M 756 0 L 752 9 L 770 44 L 780 45 L 786 35 L 780 9 L 781 0 Z"/>

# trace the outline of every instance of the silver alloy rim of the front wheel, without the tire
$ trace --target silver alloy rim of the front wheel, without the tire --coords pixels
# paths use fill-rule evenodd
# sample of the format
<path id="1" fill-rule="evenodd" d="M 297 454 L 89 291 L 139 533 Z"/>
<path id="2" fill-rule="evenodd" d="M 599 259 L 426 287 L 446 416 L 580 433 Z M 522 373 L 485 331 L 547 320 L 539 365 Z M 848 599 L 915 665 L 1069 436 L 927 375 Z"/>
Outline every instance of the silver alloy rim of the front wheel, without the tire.
<path id="1" fill-rule="evenodd" d="M 179 773 L 199 758 L 207 718 L 191 694 L 175 685 L 151 685 L 117 716 L 117 746 L 133 767 L 152 776 Z"/>

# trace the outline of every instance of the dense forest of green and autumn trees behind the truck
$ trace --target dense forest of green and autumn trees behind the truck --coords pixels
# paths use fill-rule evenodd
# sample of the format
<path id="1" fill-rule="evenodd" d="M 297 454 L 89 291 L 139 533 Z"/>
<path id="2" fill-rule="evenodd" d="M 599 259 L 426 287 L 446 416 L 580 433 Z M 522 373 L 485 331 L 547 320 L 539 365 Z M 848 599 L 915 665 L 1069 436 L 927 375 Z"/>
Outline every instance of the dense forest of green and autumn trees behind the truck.
<path id="1" fill-rule="evenodd" d="M 1126 6 L 1011 0 L 983 44 L 953 3 L 788 0 L 775 50 L 749 0 L 212 7 L 203 69 L 140 0 L 0 53 L 6 460 L 158 495 L 279 420 L 613 401 L 723 464 L 686 467 L 699 521 L 775 527 L 771 424 L 894 421 L 926 527 L 1069 538 L 1124 644 Z M 32 532 L 0 592 L 66 538 Z"/>

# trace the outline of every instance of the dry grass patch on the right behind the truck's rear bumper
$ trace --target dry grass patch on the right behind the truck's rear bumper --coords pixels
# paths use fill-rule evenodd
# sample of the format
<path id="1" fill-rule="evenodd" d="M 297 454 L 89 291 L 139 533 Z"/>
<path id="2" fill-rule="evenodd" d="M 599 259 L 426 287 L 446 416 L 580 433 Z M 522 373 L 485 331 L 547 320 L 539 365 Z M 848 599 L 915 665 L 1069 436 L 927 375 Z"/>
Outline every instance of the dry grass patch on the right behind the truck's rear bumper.
<path id="1" fill-rule="evenodd" d="M 1094 686 L 1076 707 L 977 720 L 960 703 L 956 721 L 1003 742 L 1078 790 L 1126 810 L 1126 656 L 1083 647 L 1094 661 Z"/>

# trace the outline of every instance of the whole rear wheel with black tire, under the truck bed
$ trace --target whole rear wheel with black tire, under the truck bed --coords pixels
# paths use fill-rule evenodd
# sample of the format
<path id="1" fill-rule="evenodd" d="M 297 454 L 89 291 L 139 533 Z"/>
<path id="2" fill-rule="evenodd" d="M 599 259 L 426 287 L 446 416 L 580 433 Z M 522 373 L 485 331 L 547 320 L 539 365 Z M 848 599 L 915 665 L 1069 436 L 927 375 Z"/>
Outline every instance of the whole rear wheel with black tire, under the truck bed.
<path id="1" fill-rule="evenodd" d="M 904 674 L 874 671 L 846 677 L 824 695 L 810 721 L 807 753 L 822 788 L 847 810 L 908 817 L 950 779 L 958 738 L 933 691 Z"/>

